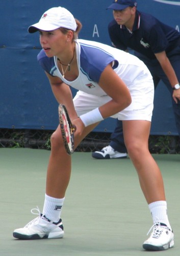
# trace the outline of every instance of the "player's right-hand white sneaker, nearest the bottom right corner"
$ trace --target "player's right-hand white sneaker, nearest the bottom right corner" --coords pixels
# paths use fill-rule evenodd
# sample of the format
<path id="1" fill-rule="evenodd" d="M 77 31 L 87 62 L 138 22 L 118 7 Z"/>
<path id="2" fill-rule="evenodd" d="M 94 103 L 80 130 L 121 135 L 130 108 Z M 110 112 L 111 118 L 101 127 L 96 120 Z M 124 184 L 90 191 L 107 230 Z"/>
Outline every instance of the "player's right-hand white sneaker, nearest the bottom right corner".
<path id="1" fill-rule="evenodd" d="M 167 250 L 174 246 L 174 234 L 172 229 L 168 228 L 163 223 L 155 223 L 149 229 L 153 228 L 149 239 L 143 243 L 143 248 L 148 251 L 162 251 Z"/>

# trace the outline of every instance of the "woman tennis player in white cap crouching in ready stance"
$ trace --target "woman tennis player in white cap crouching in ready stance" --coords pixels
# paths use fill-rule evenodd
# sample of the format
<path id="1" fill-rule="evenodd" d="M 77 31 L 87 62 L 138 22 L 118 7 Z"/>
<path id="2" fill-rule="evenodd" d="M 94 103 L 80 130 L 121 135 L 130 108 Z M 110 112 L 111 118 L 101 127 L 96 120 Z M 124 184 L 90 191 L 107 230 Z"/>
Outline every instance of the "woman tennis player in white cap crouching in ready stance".
<path id="1" fill-rule="evenodd" d="M 174 242 L 163 179 L 148 150 L 152 77 L 137 57 L 98 42 L 76 39 L 80 28 L 81 23 L 67 9 L 55 7 L 28 30 L 39 31 L 42 50 L 38 61 L 57 101 L 66 106 L 76 126 L 75 147 L 101 120 L 122 120 L 128 155 L 137 170 L 153 220 L 152 232 L 143 248 L 168 249 Z M 74 99 L 69 86 L 79 90 Z M 71 157 L 65 151 L 60 126 L 51 137 L 51 146 L 42 214 L 37 209 L 39 216 L 25 227 L 15 229 L 15 238 L 63 237 L 60 214 L 70 179 Z"/>

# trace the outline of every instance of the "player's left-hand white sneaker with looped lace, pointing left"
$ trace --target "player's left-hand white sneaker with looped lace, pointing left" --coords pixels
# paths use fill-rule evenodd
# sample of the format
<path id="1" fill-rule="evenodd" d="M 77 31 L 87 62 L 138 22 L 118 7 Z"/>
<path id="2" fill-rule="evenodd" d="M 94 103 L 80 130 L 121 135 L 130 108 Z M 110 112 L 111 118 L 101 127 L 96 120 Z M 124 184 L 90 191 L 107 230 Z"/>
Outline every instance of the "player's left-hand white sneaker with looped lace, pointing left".
<path id="1" fill-rule="evenodd" d="M 37 210 L 38 213 L 35 213 Z M 44 238 L 62 238 L 64 235 L 62 220 L 53 222 L 41 214 L 39 208 L 32 209 L 32 214 L 39 215 L 36 219 L 29 222 L 25 227 L 15 229 L 13 237 L 23 240 L 44 239 Z"/>

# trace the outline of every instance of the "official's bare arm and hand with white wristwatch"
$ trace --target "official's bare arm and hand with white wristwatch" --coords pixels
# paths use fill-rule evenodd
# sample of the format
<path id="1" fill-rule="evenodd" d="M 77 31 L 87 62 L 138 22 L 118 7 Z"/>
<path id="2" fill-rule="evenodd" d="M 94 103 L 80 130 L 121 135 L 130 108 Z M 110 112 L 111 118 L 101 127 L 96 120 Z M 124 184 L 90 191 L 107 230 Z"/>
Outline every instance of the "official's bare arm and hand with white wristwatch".
<path id="1" fill-rule="evenodd" d="M 172 88 L 174 88 L 175 84 L 179 83 L 176 74 L 174 72 L 174 69 L 166 55 L 166 52 L 160 52 L 160 53 L 156 53 L 156 58 L 158 59 L 158 61 L 160 62 L 160 65 L 164 71 L 164 73 L 166 74 L 167 78 L 169 79 L 169 82 L 172 86 Z M 180 100 L 180 89 L 178 90 L 174 90 L 173 92 L 173 99 L 174 101 L 177 103 L 177 99 Z"/>

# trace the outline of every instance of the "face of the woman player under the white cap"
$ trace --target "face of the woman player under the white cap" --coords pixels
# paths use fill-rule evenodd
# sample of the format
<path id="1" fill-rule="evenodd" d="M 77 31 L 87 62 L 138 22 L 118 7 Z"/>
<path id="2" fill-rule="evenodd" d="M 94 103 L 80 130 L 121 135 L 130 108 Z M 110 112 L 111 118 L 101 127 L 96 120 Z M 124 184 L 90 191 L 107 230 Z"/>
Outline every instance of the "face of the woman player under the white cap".
<path id="1" fill-rule="evenodd" d="M 40 44 L 47 57 L 57 56 L 65 50 L 67 36 L 60 29 L 52 31 L 40 30 Z"/>

